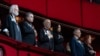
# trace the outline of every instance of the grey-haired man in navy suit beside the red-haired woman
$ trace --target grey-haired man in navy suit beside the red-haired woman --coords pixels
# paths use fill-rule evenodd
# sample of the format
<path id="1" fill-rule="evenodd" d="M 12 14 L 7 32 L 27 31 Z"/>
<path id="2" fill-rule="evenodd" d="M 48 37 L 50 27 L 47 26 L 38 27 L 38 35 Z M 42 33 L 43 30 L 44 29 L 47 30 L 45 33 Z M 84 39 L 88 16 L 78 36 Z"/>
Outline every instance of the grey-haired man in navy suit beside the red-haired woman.
<path id="1" fill-rule="evenodd" d="M 81 31 L 79 28 L 75 29 L 73 32 L 74 36 L 70 41 L 71 56 L 84 56 L 85 50 L 83 43 L 79 40 L 81 36 Z"/>

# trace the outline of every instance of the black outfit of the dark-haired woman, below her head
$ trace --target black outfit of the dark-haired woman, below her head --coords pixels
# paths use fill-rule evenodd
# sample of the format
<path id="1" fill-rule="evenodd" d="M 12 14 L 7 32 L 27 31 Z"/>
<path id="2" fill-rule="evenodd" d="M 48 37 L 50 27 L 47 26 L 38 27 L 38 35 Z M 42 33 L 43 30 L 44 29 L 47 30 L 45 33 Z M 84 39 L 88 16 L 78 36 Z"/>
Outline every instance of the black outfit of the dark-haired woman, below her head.
<path id="1" fill-rule="evenodd" d="M 54 50 L 57 52 L 65 53 L 63 46 L 63 36 L 60 33 L 54 33 Z"/>

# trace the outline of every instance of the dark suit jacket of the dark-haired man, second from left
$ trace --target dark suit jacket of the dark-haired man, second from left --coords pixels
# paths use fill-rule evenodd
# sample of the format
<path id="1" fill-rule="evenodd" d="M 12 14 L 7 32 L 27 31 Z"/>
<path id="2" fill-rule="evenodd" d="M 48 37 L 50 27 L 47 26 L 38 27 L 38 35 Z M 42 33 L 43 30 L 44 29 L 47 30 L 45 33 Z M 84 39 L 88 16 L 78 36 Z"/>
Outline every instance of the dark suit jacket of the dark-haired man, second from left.
<path id="1" fill-rule="evenodd" d="M 35 45 L 35 32 L 32 27 L 28 25 L 28 22 L 23 22 L 20 24 L 21 32 L 22 32 L 22 41 L 28 44 Z"/>

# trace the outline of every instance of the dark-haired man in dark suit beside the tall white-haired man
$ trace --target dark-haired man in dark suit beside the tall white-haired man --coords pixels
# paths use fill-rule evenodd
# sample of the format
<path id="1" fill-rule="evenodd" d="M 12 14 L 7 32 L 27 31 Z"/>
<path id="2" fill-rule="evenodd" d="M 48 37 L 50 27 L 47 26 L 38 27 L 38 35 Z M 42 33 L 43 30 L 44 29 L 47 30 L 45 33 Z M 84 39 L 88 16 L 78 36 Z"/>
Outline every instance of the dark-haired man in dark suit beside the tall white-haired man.
<path id="1" fill-rule="evenodd" d="M 37 31 L 33 26 L 34 15 L 31 12 L 26 13 L 26 21 L 21 25 L 22 41 L 28 44 L 36 45 Z"/>

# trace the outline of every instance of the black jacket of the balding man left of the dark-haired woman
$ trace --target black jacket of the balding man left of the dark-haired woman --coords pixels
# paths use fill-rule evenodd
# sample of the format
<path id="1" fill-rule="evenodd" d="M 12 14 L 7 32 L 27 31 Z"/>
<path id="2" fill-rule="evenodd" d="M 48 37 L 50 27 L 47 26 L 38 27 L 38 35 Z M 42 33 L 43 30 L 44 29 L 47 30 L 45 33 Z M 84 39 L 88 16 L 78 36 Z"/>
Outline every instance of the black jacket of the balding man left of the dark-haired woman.
<path id="1" fill-rule="evenodd" d="M 45 49 L 54 50 L 54 39 L 49 39 L 44 30 L 46 29 L 41 29 L 39 33 L 39 46 Z"/>

